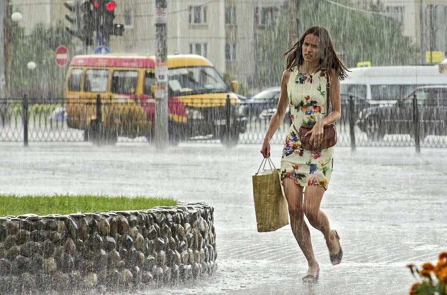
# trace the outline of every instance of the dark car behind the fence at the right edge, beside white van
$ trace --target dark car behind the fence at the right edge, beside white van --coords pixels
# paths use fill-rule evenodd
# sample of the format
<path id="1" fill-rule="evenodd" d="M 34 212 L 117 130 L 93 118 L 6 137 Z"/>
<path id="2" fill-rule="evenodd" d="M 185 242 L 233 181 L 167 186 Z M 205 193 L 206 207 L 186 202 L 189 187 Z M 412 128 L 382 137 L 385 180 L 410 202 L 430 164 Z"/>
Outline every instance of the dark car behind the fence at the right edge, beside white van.
<path id="1" fill-rule="evenodd" d="M 417 96 L 419 135 L 447 135 L 447 86 L 417 87 L 396 104 L 366 109 L 358 126 L 372 140 L 385 134 L 415 134 L 413 97 Z"/>

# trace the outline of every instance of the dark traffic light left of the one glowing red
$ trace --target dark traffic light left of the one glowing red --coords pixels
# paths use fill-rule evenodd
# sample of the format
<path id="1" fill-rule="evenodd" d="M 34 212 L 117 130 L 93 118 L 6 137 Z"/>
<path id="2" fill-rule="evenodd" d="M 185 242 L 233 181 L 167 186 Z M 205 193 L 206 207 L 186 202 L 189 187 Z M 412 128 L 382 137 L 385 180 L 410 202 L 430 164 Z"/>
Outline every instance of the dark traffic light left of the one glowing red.
<path id="1" fill-rule="evenodd" d="M 64 3 L 69 13 L 65 18 L 70 23 L 66 29 L 74 37 L 78 37 L 87 45 L 93 45 L 93 17 L 89 0 L 70 0 Z"/>

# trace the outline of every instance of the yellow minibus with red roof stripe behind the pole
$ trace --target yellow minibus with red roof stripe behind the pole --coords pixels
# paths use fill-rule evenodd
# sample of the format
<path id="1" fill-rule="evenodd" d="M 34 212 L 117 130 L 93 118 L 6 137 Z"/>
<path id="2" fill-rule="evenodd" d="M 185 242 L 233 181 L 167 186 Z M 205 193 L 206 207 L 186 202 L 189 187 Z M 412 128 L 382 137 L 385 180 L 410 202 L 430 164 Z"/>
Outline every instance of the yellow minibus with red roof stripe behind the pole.
<path id="1" fill-rule="evenodd" d="M 167 65 L 170 142 L 207 136 L 235 145 L 246 130 L 244 107 L 234 93 L 237 82 L 230 89 L 200 55 L 168 55 Z M 66 78 L 68 127 L 84 130 L 84 139 L 96 143 L 114 144 L 117 136 L 151 140 L 156 124 L 155 83 L 155 56 L 74 56 Z"/>

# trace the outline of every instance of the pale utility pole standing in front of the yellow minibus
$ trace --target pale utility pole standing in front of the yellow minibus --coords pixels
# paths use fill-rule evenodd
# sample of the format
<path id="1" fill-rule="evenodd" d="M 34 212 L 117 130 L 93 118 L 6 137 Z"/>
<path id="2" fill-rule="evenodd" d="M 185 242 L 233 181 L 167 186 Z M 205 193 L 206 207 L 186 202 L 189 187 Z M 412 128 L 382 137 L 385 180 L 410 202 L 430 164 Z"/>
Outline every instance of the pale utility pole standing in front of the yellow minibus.
<path id="1" fill-rule="evenodd" d="M 155 146 L 169 145 L 167 120 L 167 0 L 155 0 Z"/>

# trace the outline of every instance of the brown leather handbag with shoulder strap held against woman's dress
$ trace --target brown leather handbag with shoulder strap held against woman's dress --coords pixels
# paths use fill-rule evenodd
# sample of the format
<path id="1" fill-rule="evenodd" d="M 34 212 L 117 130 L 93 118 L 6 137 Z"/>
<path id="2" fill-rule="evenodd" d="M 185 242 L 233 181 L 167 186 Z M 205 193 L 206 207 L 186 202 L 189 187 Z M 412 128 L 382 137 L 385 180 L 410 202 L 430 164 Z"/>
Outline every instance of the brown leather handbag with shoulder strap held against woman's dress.
<path id="1" fill-rule="evenodd" d="M 325 76 L 326 76 L 326 115 L 328 115 L 329 113 L 329 104 L 330 104 L 330 77 L 327 74 L 327 72 L 324 72 Z M 330 148 L 333 147 L 334 145 L 337 144 L 337 130 L 335 128 L 334 124 L 329 124 L 323 127 L 323 141 L 321 142 L 321 144 L 319 146 L 313 146 L 310 142 L 310 136 L 311 134 L 305 136 L 305 134 L 307 132 L 309 132 L 310 130 L 312 130 L 314 125 L 304 125 L 300 127 L 300 131 L 298 131 L 298 135 L 300 137 L 300 142 L 301 142 L 301 146 L 305 149 L 305 150 L 309 150 L 309 151 L 320 151 L 322 149 L 326 149 L 326 148 Z M 293 126 L 293 128 L 295 128 L 295 126 Z M 296 130 L 296 128 L 295 128 Z"/>

